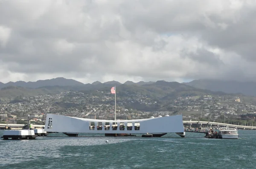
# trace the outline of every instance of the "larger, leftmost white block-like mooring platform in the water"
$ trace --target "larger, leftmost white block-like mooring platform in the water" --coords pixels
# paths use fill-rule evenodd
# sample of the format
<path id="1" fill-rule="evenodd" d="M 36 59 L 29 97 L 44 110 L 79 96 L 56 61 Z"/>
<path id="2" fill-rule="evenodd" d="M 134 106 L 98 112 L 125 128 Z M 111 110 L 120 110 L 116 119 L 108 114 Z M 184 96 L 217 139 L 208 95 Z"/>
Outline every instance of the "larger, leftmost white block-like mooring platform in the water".
<path id="1" fill-rule="evenodd" d="M 27 140 L 35 139 L 37 136 L 34 130 L 5 130 L 1 138 L 3 140 Z"/>

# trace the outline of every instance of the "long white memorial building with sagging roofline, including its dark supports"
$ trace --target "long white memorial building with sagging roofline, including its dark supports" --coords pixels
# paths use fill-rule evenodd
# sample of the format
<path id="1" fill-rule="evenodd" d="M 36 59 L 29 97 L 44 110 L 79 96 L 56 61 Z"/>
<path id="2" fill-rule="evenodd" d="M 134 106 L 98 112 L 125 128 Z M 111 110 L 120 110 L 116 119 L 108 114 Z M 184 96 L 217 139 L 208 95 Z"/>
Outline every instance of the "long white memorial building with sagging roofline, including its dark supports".
<path id="1" fill-rule="evenodd" d="M 176 133 L 185 137 L 182 115 L 136 120 L 98 120 L 47 114 L 44 131 L 105 135 Z M 158 136 L 158 135 L 157 135 Z M 160 136 L 160 135 L 159 135 Z"/>

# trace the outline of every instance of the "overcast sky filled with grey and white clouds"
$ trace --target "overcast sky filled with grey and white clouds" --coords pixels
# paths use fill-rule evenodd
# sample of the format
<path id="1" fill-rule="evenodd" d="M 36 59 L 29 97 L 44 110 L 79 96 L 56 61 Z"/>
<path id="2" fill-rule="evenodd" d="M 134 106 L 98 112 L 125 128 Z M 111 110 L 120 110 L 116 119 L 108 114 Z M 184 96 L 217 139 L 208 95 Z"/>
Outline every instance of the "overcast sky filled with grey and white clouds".
<path id="1" fill-rule="evenodd" d="M 255 0 L 0 0 L 0 82 L 256 81 Z"/>

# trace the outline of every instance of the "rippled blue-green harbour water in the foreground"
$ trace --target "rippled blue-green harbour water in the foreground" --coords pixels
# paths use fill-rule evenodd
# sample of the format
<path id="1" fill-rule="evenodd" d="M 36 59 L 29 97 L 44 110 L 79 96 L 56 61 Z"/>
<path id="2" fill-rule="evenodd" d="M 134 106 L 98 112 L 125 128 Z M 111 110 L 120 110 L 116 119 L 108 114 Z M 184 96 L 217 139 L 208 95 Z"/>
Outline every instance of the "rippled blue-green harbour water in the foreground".
<path id="1" fill-rule="evenodd" d="M 0 130 L 0 136 L 3 130 Z M 80 134 L 79 134 L 80 135 Z M 106 143 L 108 140 L 108 143 Z M 239 139 L 67 137 L 52 133 L 35 140 L 0 140 L 0 169 L 253 169 L 256 131 L 239 130 Z"/>

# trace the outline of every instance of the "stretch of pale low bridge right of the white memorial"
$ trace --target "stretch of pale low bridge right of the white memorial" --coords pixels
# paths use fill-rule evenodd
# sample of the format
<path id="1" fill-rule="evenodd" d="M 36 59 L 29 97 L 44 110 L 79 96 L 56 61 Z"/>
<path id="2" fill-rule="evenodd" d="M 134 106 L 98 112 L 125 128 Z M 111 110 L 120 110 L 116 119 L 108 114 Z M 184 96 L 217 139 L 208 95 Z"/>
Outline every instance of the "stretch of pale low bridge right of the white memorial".
<path id="1" fill-rule="evenodd" d="M 218 122 L 211 122 L 211 121 L 183 121 L 183 125 L 185 126 L 192 126 L 192 124 L 198 124 L 198 126 L 202 127 L 202 125 L 207 126 L 217 126 L 219 127 L 234 127 L 237 129 L 243 129 L 243 130 L 256 130 L 256 126 L 241 126 L 236 124 L 226 124 L 226 123 L 218 123 Z"/>

